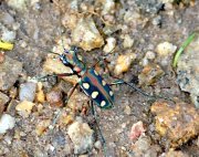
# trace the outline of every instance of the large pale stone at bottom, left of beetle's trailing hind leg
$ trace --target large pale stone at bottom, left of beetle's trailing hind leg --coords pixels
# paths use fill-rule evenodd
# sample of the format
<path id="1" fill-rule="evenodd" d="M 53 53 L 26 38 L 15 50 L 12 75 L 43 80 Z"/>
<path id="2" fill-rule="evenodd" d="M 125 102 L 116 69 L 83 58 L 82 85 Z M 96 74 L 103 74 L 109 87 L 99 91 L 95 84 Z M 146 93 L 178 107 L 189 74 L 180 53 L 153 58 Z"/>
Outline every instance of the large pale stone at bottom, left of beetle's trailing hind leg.
<path id="1" fill-rule="evenodd" d="M 67 134 L 74 144 L 74 154 L 84 154 L 93 147 L 93 129 L 86 123 L 74 122 Z"/>

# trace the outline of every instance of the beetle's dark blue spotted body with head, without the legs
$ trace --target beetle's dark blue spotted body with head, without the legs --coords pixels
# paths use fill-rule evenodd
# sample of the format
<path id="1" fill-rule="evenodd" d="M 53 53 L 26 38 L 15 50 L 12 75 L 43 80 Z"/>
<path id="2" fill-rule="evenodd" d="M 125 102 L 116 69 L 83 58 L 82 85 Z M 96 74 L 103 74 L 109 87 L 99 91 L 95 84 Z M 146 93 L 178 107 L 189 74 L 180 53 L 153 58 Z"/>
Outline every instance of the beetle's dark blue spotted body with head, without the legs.
<path id="1" fill-rule="evenodd" d="M 98 107 L 111 108 L 114 102 L 113 91 L 93 67 L 86 69 L 85 64 L 77 57 L 76 52 L 76 49 L 64 50 L 64 53 L 60 55 L 60 60 L 80 77 L 80 86 Z"/>

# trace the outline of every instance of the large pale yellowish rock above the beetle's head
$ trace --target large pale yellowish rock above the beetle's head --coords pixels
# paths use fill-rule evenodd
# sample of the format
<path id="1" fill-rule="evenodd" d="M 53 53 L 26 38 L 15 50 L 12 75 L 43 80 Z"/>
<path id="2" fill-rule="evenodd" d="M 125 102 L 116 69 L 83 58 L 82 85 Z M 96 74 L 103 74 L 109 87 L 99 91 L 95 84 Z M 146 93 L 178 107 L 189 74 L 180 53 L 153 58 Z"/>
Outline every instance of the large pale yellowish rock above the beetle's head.
<path id="1" fill-rule="evenodd" d="M 92 17 L 78 17 L 75 13 L 66 13 L 62 23 L 71 30 L 73 45 L 80 46 L 84 51 L 91 51 L 104 44 L 104 39 L 100 34 Z"/>

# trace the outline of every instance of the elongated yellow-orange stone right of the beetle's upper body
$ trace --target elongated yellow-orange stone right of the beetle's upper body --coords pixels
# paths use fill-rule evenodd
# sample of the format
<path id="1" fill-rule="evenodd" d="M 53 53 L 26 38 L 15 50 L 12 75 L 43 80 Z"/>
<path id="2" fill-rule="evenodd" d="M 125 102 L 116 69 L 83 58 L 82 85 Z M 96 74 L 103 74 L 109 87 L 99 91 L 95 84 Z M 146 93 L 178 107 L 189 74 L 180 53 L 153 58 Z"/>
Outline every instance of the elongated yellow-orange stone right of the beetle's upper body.
<path id="1" fill-rule="evenodd" d="M 115 65 L 114 73 L 115 75 L 119 75 L 124 72 L 127 72 L 130 67 L 132 62 L 136 59 L 135 53 L 127 53 L 124 55 L 119 55 L 117 57 L 117 63 Z"/>

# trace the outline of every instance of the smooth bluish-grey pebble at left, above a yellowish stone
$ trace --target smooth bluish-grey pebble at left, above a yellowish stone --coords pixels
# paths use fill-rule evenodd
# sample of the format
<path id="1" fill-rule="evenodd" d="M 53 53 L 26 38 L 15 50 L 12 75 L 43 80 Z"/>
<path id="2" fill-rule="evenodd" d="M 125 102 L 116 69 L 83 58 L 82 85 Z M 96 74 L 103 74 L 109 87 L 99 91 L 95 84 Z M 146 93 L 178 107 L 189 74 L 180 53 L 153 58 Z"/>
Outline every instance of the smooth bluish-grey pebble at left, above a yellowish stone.
<path id="1" fill-rule="evenodd" d="M 36 84 L 27 82 L 20 85 L 19 98 L 20 101 L 33 102 L 35 97 Z"/>

